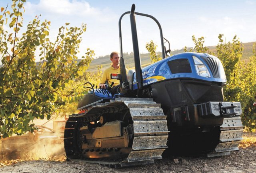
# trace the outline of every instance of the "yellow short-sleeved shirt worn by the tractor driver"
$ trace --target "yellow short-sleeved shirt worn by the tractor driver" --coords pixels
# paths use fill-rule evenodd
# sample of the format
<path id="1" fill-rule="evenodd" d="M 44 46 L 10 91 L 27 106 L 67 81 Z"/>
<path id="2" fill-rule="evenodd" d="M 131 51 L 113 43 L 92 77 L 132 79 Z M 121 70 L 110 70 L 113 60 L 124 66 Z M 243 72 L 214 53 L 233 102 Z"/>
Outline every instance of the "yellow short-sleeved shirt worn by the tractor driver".
<path id="1" fill-rule="evenodd" d="M 120 82 L 119 80 L 117 79 L 111 79 L 110 78 L 110 75 L 111 74 L 121 74 L 120 73 L 120 66 L 118 69 L 112 67 L 112 65 L 110 65 L 110 67 L 108 67 L 104 72 L 103 72 L 103 75 L 102 75 L 102 78 L 100 80 L 100 83 L 105 83 L 106 81 L 108 81 L 108 85 L 111 85 L 112 82 L 114 82 L 114 85 L 113 86 L 116 86 L 116 85 L 119 85 Z M 128 73 L 128 69 L 126 69 L 126 74 Z"/>

